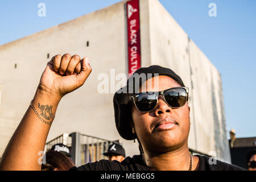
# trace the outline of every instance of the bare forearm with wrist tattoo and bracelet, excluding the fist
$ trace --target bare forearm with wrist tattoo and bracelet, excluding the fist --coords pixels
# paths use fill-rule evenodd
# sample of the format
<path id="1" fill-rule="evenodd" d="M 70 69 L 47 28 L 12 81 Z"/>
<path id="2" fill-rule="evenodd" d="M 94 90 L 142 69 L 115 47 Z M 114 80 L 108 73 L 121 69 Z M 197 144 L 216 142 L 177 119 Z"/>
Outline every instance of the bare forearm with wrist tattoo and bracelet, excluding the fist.
<path id="1" fill-rule="evenodd" d="M 60 97 L 38 89 L 32 104 L 44 121 L 51 122 L 59 101 Z M 41 110 L 46 107 L 48 107 L 48 112 L 42 114 Z M 0 170 L 40 170 L 39 152 L 44 150 L 50 127 L 51 125 L 40 120 L 29 106 L 6 147 Z"/>

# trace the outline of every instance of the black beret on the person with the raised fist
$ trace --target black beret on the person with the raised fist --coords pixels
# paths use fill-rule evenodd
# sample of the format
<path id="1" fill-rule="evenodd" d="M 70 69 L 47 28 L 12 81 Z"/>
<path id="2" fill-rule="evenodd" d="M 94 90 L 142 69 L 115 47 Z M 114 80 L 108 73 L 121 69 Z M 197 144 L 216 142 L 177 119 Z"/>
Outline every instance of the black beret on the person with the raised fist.
<path id="1" fill-rule="evenodd" d="M 119 135 L 126 140 L 137 138 L 137 135 L 134 135 L 131 129 L 133 119 L 131 118 L 130 96 L 133 96 L 135 92 L 138 92 L 137 89 L 142 86 L 143 80 L 136 80 L 136 77 L 142 74 L 146 76 L 144 81 L 154 76 L 164 75 L 174 79 L 180 86 L 185 86 L 181 78 L 169 68 L 152 65 L 147 68 L 137 69 L 137 71 L 135 71 L 127 80 L 127 85 L 115 92 L 113 98 L 115 126 L 117 127 Z M 123 92 L 123 90 L 125 90 L 126 93 Z M 130 90 L 132 92 L 130 92 Z"/>

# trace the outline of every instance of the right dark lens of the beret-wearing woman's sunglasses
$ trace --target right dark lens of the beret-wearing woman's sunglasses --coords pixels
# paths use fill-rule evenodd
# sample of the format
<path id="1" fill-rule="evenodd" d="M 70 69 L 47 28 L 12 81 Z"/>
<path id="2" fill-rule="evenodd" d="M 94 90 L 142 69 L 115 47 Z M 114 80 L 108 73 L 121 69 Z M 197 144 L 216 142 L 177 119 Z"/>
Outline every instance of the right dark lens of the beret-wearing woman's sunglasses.
<path id="1" fill-rule="evenodd" d="M 164 99 L 171 107 L 181 107 L 187 101 L 187 92 L 184 88 L 170 89 L 164 93 Z"/>

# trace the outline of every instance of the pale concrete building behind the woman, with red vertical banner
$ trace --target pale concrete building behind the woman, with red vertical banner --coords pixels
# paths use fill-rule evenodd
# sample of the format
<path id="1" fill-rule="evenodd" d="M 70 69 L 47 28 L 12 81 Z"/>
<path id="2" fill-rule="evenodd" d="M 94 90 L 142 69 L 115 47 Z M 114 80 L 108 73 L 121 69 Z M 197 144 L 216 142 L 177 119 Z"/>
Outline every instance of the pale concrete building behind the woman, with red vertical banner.
<path id="1" fill-rule="evenodd" d="M 40 76 L 56 54 L 88 56 L 85 85 L 60 102 L 48 140 L 63 133 L 121 139 L 127 155 L 138 143 L 123 140 L 114 122 L 114 93 L 99 94 L 100 73 L 128 74 L 127 12 L 122 1 L 0 46 L 0 156 L 34 97 Z M 189 148 L 230 162 L 221 75 L 158 0 L 139 1 L 141 67 L 174 70 L 189 87 Z"/>

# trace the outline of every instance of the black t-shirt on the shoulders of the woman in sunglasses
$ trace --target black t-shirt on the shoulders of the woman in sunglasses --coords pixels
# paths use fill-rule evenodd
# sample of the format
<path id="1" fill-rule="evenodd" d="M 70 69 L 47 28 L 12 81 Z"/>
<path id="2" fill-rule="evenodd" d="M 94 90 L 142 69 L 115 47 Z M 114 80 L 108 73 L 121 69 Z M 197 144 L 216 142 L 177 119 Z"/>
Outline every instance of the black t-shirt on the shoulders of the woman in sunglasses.
<path id="1" fill-rule="evenodd" d="M 195 155 L 199 157 L 199 167 L 197 171 L 244 171 L 245 169 L 232 164 L 216 160 L 211 163 L 207 156 Z M 209 162 L 210 161 L 210 162 Z M 80 167 L 73 167 L 69 171 L 149 171 L 150 168 L 144 164 L 142 155 L 134 155 L 133 158 L 127 157 L 121 163 L 117 160 L 100 160 L 88 163 Z"/>

